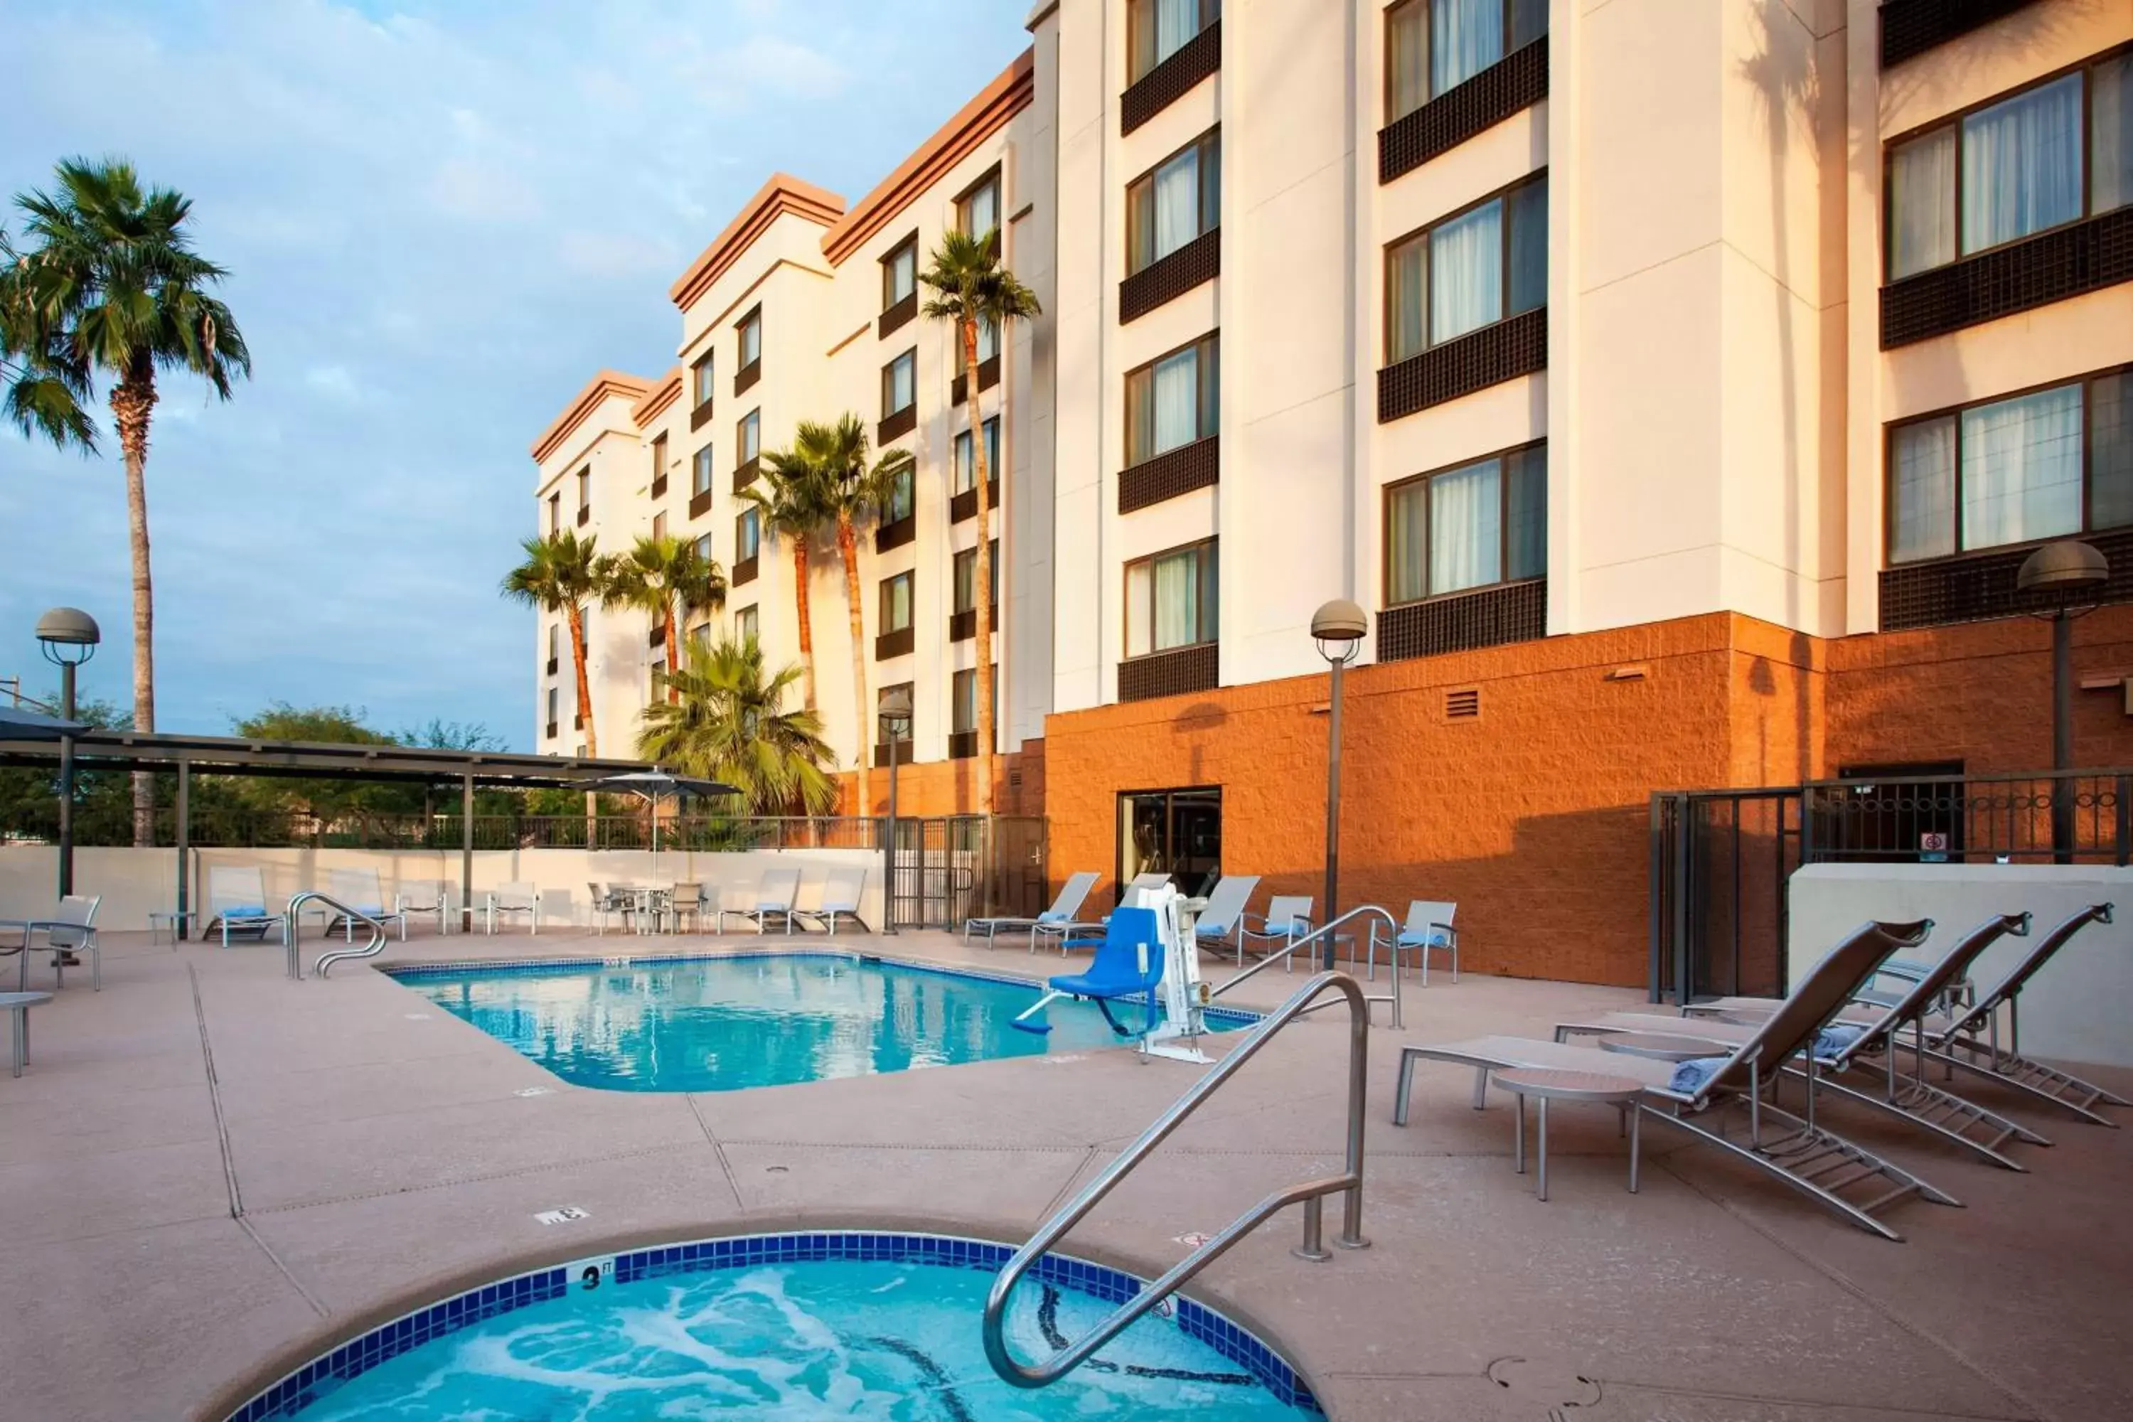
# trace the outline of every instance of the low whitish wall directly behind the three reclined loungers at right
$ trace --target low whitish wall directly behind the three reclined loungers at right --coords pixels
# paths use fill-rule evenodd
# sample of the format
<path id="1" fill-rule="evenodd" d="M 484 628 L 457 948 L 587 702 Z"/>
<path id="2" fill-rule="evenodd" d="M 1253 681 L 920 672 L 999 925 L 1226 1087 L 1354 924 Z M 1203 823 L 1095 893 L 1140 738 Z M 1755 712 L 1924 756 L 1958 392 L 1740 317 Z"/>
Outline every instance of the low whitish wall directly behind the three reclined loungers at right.
<path id="1" fill-rule="evenodd" d="M 2022 989 L 2022 1051 L 2065 1062 L 2133 1066 L 2133 870 L 2056 863 L 1815 863 L 1792 876 L 1792 981 L 1866 919 L 1932 919 L 1937 957 L 1979 919 L 2033 915 L 2028 938 L 2001 938 L 1971 976 L 1979 989 L 2088 904 L 2118 904 L 2116 923 L 2090 923 Z"/>

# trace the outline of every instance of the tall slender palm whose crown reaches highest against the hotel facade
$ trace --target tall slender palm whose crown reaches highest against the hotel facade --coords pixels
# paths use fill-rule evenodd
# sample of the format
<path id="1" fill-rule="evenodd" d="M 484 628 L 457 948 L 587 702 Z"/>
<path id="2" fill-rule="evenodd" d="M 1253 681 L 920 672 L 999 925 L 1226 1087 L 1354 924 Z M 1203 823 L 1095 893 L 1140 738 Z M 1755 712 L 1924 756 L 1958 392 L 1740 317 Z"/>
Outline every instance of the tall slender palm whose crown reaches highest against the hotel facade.
<path id="1" fill-rule="evenodd" d="M 934 290 L 926 301 L 928 320 L 956 322 L 962 345 L 964 392 L 971 401 L 971 454 L 977 463 L 977 808 L 992 814 L 992 490 L 985 469 L 985 422 L 979 418 L 977 328 L 990 324 L 1007 339 L 1007 324 L 1041 316 L 1037 292 L 1000 266 L 1000 235 L 945 232 L 932 252 L 932 266 L 919 281 Z"/>

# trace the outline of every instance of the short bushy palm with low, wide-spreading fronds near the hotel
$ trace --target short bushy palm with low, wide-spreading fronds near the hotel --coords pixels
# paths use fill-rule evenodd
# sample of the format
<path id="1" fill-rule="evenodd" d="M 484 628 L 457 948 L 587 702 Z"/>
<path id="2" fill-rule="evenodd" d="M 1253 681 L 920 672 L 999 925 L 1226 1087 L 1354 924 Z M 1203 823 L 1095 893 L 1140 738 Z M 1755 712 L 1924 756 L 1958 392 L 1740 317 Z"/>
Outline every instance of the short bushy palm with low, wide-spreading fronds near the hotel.
<path id="1" fill-rule="evenodd" d="M 823 770 L 832 759 L 821 716 L 785 710 L 800 667 L 764 669 L 764 648 L 723 640 L 689 648 L 689 665 L 670 674 L 674 701 L 644 708 L 638 755 L 683 774 L 725 780 L 755 814 L 802 808 L 821 814 L 836 799 Z"/>

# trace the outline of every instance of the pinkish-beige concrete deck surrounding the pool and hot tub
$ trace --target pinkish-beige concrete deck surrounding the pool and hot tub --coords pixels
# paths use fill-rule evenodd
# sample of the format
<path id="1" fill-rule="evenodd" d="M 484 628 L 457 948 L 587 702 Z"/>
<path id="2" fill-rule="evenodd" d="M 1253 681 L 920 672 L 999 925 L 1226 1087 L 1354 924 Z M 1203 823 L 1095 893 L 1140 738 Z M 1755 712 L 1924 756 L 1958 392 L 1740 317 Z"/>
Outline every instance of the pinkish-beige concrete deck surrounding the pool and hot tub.
<path id="1" fill-rule="evenodd" d="M 779 942 L 516 932 L 395 942 L 384 962 Z M 834 947 L 1058 970 L 1056 955 L 947 934 Z M 107 934 L 105 989 L 83 970 L 36 1008 L 30 1070 L 0 1079 L 0 1416 L 220 1418 L 412 1305 L 621 1245 L 802 1226 L 1020 1241 L 1197 1079 L 1092 1051 L 751 1092 L 589 1092 L 365 964 L 292 983 L 282 962 L 277 942 Z M 1239 1000 L 1273 1006 L 1299 983 L 1273 970 Z M 32 987 L 49 987 L 43 955 Z M 1570 1405 L 1598 1422 L 2073 1420 L 2133 1394 L 2129 1132 L 2005 1102 L 2056 1143 L 2016 1147 L 2031 1173 L 2014 1175 L 1832 1109 L 1839 1130 L 1967 1205 L 1901 1207 L 1898 1245 L 1651 1121 L 1630 1196 L 1602 1109 L 1555 1115 L 1542 1205 L 1510 1170 L 1508 1096 L 1472 1111 L 1457 1068 L 1423 1066 L 1412 1126 L 1391 1126 L 1401 1043 L 1544 1036 L 1640 1000 L 1436 972 L 1425 991 L 1410 974 L 1406 1030 L 1380 1008 L 1372 1032 L 1374 1247 L 1299 1262 L 1288 1211 L 1190 1292 L 1263 1330 L 1337 1422 L 1538 1422 Z M 1342 1013 L 1299 1021 L 1062 1247 L 1152 1275 L 1182 1258 L 1180 1237 L 1337 1168 L 1344 1053 Z M 2133 1087 L 2127 1072 L 2097 1077 Z M 1977 1096 L 1999 1100 L 1990 1085 Z M 563 1205 L 587 1217 L 535 1219 Z M 1327 1213 L 1333 1232 L 1337 1200 Z"/>

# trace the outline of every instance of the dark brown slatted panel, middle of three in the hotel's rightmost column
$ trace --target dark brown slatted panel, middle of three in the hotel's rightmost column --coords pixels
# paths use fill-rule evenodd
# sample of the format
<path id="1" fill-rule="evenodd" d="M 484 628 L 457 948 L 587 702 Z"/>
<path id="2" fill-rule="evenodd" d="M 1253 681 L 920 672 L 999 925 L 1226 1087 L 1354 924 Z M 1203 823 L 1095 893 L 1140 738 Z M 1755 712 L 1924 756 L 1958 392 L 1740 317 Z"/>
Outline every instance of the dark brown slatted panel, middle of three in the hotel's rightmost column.
<path id="1" fill-rule="evenodd" d="M 2133 207 L 1881 288 L 1881 350 L 2133 281 Z"/>

